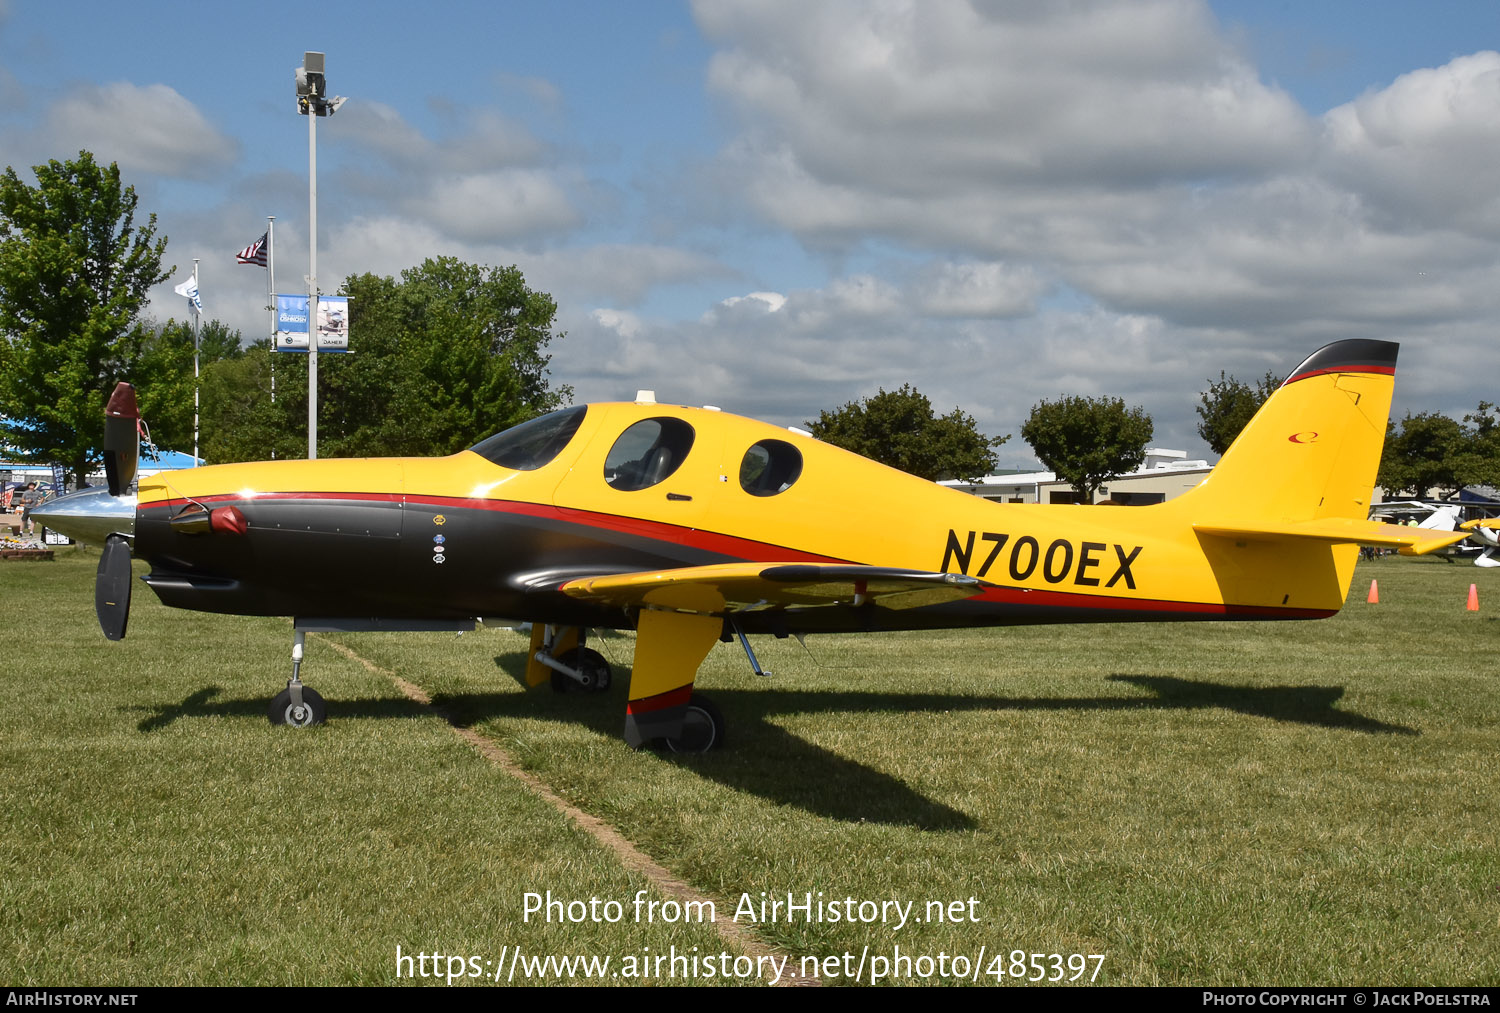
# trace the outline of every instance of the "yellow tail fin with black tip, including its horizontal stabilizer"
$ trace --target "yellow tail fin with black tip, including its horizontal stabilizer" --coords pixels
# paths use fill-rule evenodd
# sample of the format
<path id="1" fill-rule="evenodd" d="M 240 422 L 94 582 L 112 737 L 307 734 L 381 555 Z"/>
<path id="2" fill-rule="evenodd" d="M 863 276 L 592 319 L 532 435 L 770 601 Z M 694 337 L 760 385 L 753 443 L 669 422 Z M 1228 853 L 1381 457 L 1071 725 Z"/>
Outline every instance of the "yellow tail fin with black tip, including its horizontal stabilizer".
<path id="1" fill-rule="evenodd" d="M 1431 552 L 1454 542 L 1368 521 L 1390 417 L 1392 341 L 1336 341 L 1302 362 L 1197 489 L 1180 497 L 1203 534 L 1316 539 Z"/>

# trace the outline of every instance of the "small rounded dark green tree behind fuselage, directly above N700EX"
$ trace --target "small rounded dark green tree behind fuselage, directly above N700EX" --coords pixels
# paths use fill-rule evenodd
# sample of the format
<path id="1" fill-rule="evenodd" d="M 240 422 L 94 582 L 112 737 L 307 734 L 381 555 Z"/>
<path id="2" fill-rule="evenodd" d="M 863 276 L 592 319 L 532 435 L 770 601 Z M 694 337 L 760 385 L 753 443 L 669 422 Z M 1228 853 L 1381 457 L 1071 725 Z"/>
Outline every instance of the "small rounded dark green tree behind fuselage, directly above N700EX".
<path id="1" fill-rule="evenodd" d="M 1125 408 L 1122 398 L 1042 401 L 1022 426 L 1022 440 L 1084 503 L 1110 479 L 1146 461 L 1154 426 L 1144 408 Z"/>

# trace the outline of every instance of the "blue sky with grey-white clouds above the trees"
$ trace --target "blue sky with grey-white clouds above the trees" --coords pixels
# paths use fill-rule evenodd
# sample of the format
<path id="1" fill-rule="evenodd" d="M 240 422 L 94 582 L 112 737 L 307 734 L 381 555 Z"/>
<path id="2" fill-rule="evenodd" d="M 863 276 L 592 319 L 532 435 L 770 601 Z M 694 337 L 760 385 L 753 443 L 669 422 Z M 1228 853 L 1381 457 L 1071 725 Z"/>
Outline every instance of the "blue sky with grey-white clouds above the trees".
<path id="1" fill-rule="evenodd" d="M 1500 401 L 1496 47 L 1492 0 L 0 0 L 0 162 L 118 162 L 261 336 L 234 254 L 274 215 L 306 290 L 321 50 L 324 291 L 516 264 L 580 401 L 795 425 L 912 383 L 1000 435 L 1107 393 L 1209 456 L 1209 377 L 1338 338 L 1402 342 L 1398 413 Z"/>

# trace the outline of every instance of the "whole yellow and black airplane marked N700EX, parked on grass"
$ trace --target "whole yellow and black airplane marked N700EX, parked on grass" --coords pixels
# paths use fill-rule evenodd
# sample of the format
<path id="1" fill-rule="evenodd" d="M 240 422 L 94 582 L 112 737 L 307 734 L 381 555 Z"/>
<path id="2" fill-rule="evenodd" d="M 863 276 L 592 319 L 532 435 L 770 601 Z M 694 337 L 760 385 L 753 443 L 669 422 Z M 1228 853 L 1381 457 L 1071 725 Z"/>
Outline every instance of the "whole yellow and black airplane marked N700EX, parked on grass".
<path id="1" fill-rule="evenodd" d="M 326 707 L 309 630 L 534 624 L 526 681 L 608 689 L 588 629 L 634 629 L 626 741 L 700 752 L 716 641 L 1032 623 L 1294 620 L 1344 603 L 1358 545 L 1462 537 L 1366 521 L 1396 345 L 1341 341 L 1292 371 L 1214 473 L 1144 507 L 1002 504 L 716 408 L 564 408 L 448 458 L 228 464 L 142 479 L 136 411 L 108 410 L 110 489 L 33 513 L 104 542 L 96 605 L 124 636 L 130 554 L 177 608 L 294 618 L 273 723 Z"/>

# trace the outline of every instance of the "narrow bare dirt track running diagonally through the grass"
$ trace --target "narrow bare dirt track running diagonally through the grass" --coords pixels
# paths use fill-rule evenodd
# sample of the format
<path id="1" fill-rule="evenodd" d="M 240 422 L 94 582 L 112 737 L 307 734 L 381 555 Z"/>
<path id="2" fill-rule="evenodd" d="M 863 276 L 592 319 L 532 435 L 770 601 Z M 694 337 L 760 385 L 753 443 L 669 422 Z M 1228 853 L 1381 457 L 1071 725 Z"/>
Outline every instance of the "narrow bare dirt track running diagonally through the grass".
<path id="1" fill-rule="evenodd" d="M 504 770 L 507 774 L 524 783 L 536 795 L 544 800 L 549 806 L 561 812 L 564 816 L 572 819 L 574 825 L 578 825 L 591 837 L 594 837 L 594 840 L 609 848 L 609 851 L 620 858 L 621 864 L 624 864 L 627 869 L 632 869 L 644 875 L 666 897 L 670 897 L 672 900 L 678 900 L 682 903 L 688 900 L 693 902 L 714 900 L 717 906 L 720 908 L 724 906 L 724 900 L 722 897 L 711 897 L 706 893 L 694 890 L 686 879 L 676 876 L 660 861 L 657 861 L 645 851 L 638 848 L 634 843 L 627 840 L 612 825 L 609 825 L 598 816 L 584 812 L 582 809 L 570 803 L 567 798 L 552 791 L 552 788 L 544 780 L 532 774 L 530 770 L 522 768 L 520 764 L 518 764 L 516 759 L 504 749 L 501 749 L 494 740 L 480 735 L 472 728 L 462 728 L 453 723 L 453 719 L 448 714 L 446 714 L 442 708 L 432 705 L 432 698 L 428 696 L 426 690 L 423 690 L 416 683 L 410 683 L 396 672 L 384 669 L 375 662 L 356 654 L 351 648 L 345 647 L 344 644 L 334 639 L 328 638 L 321 638 L 321 639 L 328 647 L 344 654 L 350 660 L 363 665 L 368 671 L 388 678 L 396 686 L 396 689 L 399 689 L 406 696 L 406 699 L 411 699 L 412 702 L 426 707 L 438 717 L 442 717 L 442 720 L 448 723 L 448 728 L 453 729 L 453 734 L 456 734 L 459 738 L 462 738 L 476 750 L 478 750 L 478 753 L 484 756 L 484 759 L 490 761 L 492 764 Z M 782 974 L 780 984 L 783 986 L 820 984 L 818 978 L 801 977 L 792 969 L 798 966 L 798 959 L 795 956 L 768 947 L 765 942 L 758 939 L 753 933 L 741 927 L 738 923 L 716 921 L 714 927 L 718 929 L 718 935 L 720 938 L 723 938 L 724 942 L 736 947 L 746 956 L 752 957 L 764 956 L 764 957 L 774 957 L 777 960 L 786 959 L 786 971 Z"/>

